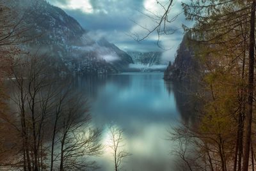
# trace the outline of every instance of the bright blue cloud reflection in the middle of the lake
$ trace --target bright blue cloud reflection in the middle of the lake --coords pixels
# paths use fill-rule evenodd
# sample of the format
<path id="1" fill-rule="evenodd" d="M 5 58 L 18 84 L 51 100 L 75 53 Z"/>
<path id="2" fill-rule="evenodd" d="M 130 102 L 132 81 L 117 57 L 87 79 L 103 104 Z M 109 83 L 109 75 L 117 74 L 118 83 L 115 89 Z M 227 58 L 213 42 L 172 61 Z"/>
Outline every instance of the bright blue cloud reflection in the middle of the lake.
<path id="1" fill-rule="evenodd" d="M 137 81 L 132 82 L 129 87 L 118 87 L 115 83 L 108 82 L 99 93 L 101 97 L 95 102 L 97 106 L 101 106 L 97 110 L 109 115 L 115 113 L 121 113 L 121 115 L 147 115 L 152 113 L 154 113 L 153 115 L 166 115 L 166 113 L 170 114 L 170 111 L 173 111 L 172 115 L 177 113 L 174 111 L 176 107 L 175 98 L 174 96 L 168 96 L 166 90 L 163 89 L 164 85 L 163 87 L 156 85 L 156 89 L 154 89 L 154 85 L 150 87 L 148 84 L 149 93 L 147 87 L 138 84 Z M 141 89 L 141 87 L 146 88 Z M 120 108 L 122 112 L 120 112 Z"/>

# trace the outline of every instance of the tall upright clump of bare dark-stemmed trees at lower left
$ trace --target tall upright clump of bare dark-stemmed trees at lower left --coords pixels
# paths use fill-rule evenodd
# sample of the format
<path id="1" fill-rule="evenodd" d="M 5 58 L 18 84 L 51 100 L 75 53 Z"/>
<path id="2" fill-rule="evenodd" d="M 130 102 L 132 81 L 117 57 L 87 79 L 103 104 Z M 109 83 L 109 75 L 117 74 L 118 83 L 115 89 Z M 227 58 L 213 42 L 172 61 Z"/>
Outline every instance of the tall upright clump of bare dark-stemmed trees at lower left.
<path id="1" fill-rule="evenodd" d="M 51 70 L 45 67 L 45 56 L 26 56 L 17 61 L 12 73 L 13 94 L 11 99 L 17 106 L 20 117 L 24 170 L 39 170 L 40 154 L 43 151 L 44 125 L 51 115 L 52 99 L 56 91 L 52 88 Z"/>

